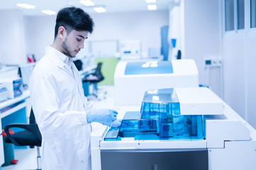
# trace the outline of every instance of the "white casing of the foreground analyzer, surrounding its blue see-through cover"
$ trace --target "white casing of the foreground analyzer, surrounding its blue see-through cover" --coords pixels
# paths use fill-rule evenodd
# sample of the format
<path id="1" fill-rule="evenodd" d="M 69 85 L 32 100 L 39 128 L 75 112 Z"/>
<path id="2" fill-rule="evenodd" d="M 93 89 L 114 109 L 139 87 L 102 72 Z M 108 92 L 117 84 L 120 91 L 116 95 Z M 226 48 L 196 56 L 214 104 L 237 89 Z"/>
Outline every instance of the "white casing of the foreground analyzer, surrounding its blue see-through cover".
<path id="1" fill-rule="evenodd" d="M 179 94 L 191 95 L 194 91 L 194 98 L 205 99 L 201 102 L 201 111 L 204 114 L 205 139 L 203 140 L 134 140 L 134 138 L 124 138 L 116 141 L 105 141 L 107 128 L 102 128 L 91 134 L 91 160 L 92 170 L 101 169 L 101 152 L 157 152 L 167 151 L 198 151 L 206 149 L 208 151 L 208 170 L 254 170 L 256 167 L 256 130 L 243 120 L 224 101 L 213 95 L 210 89 L 202 88 L 177 88 Z M 190 92 L 189 92 L 190 91 Z M 204 91 L 204 93 L 200 93 Z M 193 97 L 191 97 L 193 98 Z M 200 99 L 200 100 L 201 100 Z M 183 99 L 182 99 L 183 100 Z M 187 103 L 190 99 L 187 100 Z M 196 101 L 199 101 L 196 99 Z M 192 101 L 192 103 L 196 103 Z M 199 103 L 198 103 L 199 104 Z M 211 105 L 213 104 L 213 105 Z M 193 106 L 194 104 L 191 104 Z M 217 106 L 216 114 L 211 113 L 211 109 Z M 221 108 L 220 108 L 221 106 Z M 123 108 L 126 106 L 123 106 Z M 180 111 L 187 106 L 180 105 Z M 197 107 L 195 105 L 195 107 Z M 193 107 L 192 107 L 193 108 Z M 194 108 L 191 111 L 194 112 Z M 197 108 L 195 108 L 196 110 Z M 129 107 L 124 109 L 129 111 Z M 124 115 L 119 112 L 118 115 Z"/>

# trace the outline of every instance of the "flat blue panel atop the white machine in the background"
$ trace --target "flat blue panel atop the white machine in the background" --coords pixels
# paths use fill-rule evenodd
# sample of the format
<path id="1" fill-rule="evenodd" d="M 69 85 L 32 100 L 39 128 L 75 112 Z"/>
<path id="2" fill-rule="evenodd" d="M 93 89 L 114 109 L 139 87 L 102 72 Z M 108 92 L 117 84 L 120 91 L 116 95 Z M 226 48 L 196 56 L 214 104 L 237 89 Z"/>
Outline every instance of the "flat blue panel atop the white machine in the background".
<path id="1" fill-rule="evenodd" d="M 135 74 L 172 74 L 172 62 L 128 62 L 125 75 Z"/>

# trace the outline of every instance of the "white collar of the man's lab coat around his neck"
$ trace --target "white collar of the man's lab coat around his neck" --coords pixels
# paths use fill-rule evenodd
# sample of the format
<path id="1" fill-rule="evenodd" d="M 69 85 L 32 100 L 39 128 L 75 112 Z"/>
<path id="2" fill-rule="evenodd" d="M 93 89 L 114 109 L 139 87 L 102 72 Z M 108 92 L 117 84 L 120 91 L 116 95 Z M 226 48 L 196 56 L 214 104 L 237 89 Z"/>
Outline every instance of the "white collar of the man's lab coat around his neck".
<path id="1" fill-rule="evenodd" d="M 51 57 L 50 60 L 55 62 L 55 64 L 57 64 L 57 66 L 59 67 L 64 67 L 65 64 L 69 65 L 69 67 L 71 67 L 72 65 L 72 62 L 73 62 L 72 57 L 67 57 L 62 52 L 60 52 L 59 50 L 56 50 L 54 47 L 50 45 L 45 48 L 45 53 L 50 54 L 49 55 Z"/>

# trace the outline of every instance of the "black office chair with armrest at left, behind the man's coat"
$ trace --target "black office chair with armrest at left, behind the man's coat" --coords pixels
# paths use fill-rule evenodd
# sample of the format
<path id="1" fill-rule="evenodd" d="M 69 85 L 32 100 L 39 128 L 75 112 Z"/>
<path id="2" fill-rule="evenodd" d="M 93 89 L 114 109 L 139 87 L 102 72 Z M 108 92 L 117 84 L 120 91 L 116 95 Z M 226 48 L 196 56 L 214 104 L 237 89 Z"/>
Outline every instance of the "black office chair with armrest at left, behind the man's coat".
<path id="1" fill-rule="evenodd" d="M 21 128 L 23 129 L 20 132 L 16 132 L 13 135 L 9 133 L 10 128 Z M 29 146 L 30 148 L 37 147 L 38 149 L 38 169 L 41 169 L 41 157 L 40 157 L 40 146 L 42 142 L 42 135 L 38 128 L 38 125 L 35 122 L 35 115 L 33 113 L 33 109 L 30 111 L 29 124 L 26 123 L 13 123 L 10 125 L 6 125 L 4 128 L 6 132 L 6 143 L 13 143 L 16 146 Z"/>

